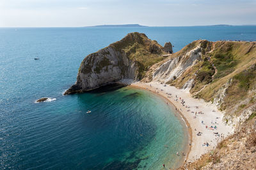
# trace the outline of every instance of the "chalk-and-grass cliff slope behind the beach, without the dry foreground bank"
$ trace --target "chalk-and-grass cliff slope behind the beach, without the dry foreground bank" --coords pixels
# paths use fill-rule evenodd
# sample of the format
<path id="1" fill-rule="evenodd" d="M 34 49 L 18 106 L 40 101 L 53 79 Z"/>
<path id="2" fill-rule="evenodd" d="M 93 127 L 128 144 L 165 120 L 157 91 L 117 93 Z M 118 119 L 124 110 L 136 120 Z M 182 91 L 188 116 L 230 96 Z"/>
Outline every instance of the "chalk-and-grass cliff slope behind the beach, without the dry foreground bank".
<path id="1" fill-rule="evenodd" d="M 193 41 L 150 67 L 143 81 L 167 83 L 211 102 L 237 127 L 256 111 L 256 43 Z"/>

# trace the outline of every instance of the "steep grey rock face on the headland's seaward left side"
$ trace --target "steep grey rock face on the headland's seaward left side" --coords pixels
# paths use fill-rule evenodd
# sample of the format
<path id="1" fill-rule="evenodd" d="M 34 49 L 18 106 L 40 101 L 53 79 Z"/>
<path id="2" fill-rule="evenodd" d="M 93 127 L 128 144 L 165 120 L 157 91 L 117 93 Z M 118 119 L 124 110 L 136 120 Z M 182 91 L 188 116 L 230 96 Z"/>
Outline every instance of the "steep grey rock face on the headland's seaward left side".
<path id="1" fill-rule="evenodd" d="M 125 53 L 111 46 L 88 55 L 79 68 L 77 81 L 65 94 L 85 92 L 122 79 L 136 80 L 138 66 Z"/>

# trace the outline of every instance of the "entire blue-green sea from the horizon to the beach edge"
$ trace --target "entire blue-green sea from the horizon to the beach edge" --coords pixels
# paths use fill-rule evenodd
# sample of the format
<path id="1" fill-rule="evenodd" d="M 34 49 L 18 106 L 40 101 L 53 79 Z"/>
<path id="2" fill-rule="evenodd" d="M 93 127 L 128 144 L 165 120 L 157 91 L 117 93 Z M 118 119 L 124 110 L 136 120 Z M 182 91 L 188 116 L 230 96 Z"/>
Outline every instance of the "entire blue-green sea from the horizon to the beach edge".
<path id="1" fill-rule="evenodd" d="M 188 134 L 163 98 L 132 87 L 63 96 L 86 55 L 134 31 L 175 52 L 196 39 L 256 40 L 255 26 L 1 28 L 0 169 L 179 166 Z"/>

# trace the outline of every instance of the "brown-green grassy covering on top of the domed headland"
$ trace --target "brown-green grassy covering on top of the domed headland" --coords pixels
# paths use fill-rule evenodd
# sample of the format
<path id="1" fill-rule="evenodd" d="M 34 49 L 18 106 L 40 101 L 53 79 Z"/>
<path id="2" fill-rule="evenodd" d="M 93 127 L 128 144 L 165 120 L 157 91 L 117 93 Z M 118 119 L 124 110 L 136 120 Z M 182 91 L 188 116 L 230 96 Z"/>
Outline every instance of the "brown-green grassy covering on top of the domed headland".
<path id="1" fill-rule="evenodd" d="M 163 60 L 163 53 L 165 53 L 163 46 L 159 45 L 157 41 L 148 39 L 143 33 L 131 32 L 120 41 L 116 41 L 84 58 L 79 67 L 79 72 L 84 74 L 100 73 L 103 68 L 108 71 L 108 66 L 112 64 L 107 57 L 110 55 L 109 48 L 114 50 L 114 53 L 118 55 L 120 60 L 125 56 L 136 63 L 138 67 L 136 77 L 139 79 L 143 78 L 150 66 Z M 122 71 L 124 71 L 124 63 L 118 62 L 118 64 L 120 64 Z"/>

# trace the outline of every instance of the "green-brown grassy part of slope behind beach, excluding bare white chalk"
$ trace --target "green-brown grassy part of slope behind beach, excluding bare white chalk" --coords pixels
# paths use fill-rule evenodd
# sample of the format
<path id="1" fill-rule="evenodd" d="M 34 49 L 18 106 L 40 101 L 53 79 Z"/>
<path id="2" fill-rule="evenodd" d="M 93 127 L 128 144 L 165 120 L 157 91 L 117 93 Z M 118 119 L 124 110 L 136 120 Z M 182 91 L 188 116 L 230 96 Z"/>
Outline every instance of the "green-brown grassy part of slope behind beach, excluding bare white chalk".
<path id="1" fill-rule="evenodd" d="M 256 104 L 256 42 L 197 40 L 168 59 L 185 55 L 196 46 L 201 48 L 200 60 L 168 82 L 170 85 L 182 88 L 193 79 L 190 92 L 194 97 L 217 102 L 220 110 L 230 115 L 239 115 Z"/>

